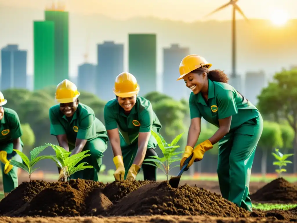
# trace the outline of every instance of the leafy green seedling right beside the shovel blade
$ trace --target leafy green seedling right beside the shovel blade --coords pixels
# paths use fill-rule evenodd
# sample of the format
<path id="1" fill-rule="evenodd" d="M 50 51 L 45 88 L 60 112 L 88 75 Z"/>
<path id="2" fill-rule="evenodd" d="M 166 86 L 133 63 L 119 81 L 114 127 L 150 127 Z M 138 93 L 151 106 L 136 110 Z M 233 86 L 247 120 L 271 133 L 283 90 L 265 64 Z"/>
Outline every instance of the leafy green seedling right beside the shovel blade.
<path id="1" fill-rule="evenodd" d="M 165 173 L 166 178 L 167 178 L 167 182 L 168 182 L 170 164 L 172 164 L 173 162 L 180 161 L 181 158 L 179 156 L 177 156 L 177 155 L 181 154 L 181 153 L 184 153 L 184 151 L 175 152 L 175 150 L 180 147 L 180 146 L 177 146 L 176 144 L 181 139 L 181 136 L 184 133 L 179 134 L 178 136 L 176 136 L 172 140 L 172 142 L 170 144 L 168 144 L 165 141 L 165 139 L 161 136 L 161 134 L 156 133 L 153 130 L 151 130 L 151 134 L 157 140 L 158 146 L 159 146 L 159 148 L 161 149 L 161 151 L 163 153 L 163 157 L 160 158 L 158 156 L 149 156 L 149 158 L 145 159 L 144 161 L 154 162 L 154 164 L 151 164 L 151 163 L 143 163 L 143 164 L 151 165 L 151 166 L 154 166 L 154 167 L 157 167 L 157 168 L 161 169 Z M 174 167 L 179 167 L 179 165 L 176 165 Z"/>

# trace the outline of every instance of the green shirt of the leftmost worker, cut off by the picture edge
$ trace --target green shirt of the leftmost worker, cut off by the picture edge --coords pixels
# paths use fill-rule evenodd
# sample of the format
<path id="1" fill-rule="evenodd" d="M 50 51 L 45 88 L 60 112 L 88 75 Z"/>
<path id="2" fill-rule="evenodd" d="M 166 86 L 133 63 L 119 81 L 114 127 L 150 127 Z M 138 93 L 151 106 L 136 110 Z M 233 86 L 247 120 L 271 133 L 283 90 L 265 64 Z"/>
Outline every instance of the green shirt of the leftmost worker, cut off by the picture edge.
<path id="1" fill-rule="evenodd" d="M 8 143 L 12 143 L 14 139 L 18 139 L 23 135 L 18 114 L 12 109 L 3 109 L 4 116 L 0 120 L 0 150 L 3 150 L 3 146 L 5 147 Z M 20 143 L 23 146 L 21 140 Z M 7 151 L 7 153 L 12 153 L 12 151 Z"/>

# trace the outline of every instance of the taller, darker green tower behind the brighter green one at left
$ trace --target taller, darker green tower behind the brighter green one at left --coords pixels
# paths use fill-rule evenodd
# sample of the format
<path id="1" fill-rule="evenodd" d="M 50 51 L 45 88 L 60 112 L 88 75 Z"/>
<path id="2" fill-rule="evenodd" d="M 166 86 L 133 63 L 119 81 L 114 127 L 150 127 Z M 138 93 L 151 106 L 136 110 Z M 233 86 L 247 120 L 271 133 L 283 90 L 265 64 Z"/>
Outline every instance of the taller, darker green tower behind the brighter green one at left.
<path id="1" fill-rule="evenodd" d="M 46 10 L 45 21 L 55 23 L 55 85 L 69 79 L 68 12 Z"/>

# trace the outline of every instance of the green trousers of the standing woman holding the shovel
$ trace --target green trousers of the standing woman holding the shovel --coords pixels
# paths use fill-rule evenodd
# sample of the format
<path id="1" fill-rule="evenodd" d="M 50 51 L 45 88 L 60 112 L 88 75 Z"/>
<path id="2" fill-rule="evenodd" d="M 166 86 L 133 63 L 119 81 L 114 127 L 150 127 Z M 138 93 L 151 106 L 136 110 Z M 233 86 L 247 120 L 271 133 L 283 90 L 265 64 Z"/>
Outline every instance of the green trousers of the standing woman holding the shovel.
<path id="1" fill-rule="evenodd" d="M 251 169 L 262 131 L 263 119 L 259 113 L 219 141 L 217 173 L 222 197 L 248 211 L 252 211 Z"/>

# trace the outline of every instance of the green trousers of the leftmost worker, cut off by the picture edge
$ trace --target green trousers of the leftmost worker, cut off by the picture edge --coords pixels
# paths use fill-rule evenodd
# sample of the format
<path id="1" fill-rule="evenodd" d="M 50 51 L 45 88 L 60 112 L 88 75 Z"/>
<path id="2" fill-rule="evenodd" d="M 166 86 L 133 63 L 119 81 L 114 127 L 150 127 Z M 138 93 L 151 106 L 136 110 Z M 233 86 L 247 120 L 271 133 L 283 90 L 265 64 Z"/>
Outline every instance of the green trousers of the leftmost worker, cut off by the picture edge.
<path id="1" fill-rule="evenodd" d="M 13 143 L 7 143 L 6 145 L 1 145 L 0 150 L 4 151 L 12 151 L 13 149 Z M 20 147 L 20 151 L 23 151 L 23 147 Z M 13 159 L 15 161 L 18 161 L 20 163 L 23 163 L 22 158 L 15 152 L 7 153 L 7 159 Z M 4 166 L 5 164 L 1 163 L 1 171 L 2 171 L 2 180 L 3 180 L 3 189 L 4 193 L 10 193 L 12 190 L 14 190 L 18 186 L 18 167 L 13 167 L 12 170 L 8 174 L 4 173 Z"/>

